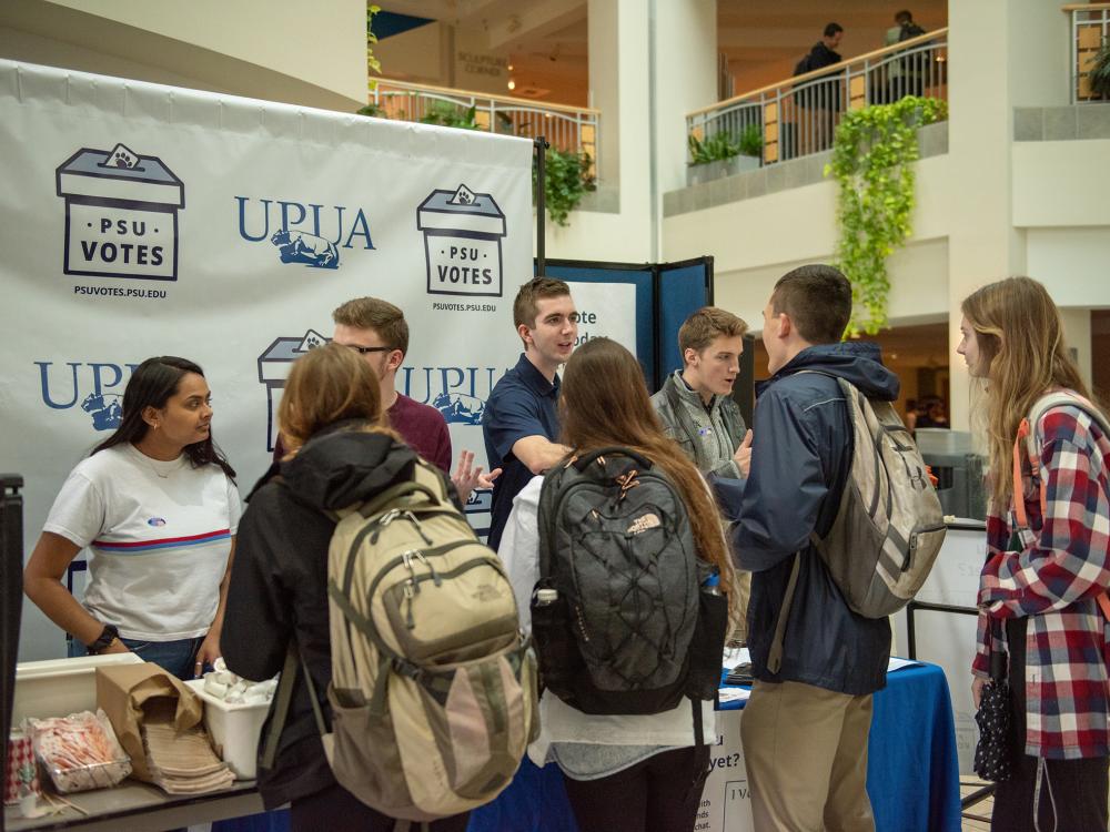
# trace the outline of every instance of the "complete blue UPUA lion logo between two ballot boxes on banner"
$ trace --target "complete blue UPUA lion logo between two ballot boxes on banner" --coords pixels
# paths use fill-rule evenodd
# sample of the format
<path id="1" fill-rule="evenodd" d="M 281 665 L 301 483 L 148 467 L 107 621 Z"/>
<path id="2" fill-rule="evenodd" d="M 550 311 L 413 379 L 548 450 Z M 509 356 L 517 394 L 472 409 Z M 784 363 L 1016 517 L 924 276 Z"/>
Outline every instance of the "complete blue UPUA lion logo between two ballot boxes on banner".
<path id="1" fill-rule="evenodd" d="M 249 243 L 269 242 L 278 260 L 313 268 L 339 268 L 340 250 L 373 250 L 366 213 L 345 205 L 236 196 L 239 235 Z"/>

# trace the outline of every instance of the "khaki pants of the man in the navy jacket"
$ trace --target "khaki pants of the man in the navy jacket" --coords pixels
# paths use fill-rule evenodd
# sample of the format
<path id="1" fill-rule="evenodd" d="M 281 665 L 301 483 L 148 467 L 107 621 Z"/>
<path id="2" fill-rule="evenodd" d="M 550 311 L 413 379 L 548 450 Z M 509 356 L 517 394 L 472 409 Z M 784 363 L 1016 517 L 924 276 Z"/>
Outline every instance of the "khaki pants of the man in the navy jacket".
<path id="1" fill-rule="evenodd" d="M 756 832 L 875 832 L 871 697 L 756 681 L 740 720 Z"/>

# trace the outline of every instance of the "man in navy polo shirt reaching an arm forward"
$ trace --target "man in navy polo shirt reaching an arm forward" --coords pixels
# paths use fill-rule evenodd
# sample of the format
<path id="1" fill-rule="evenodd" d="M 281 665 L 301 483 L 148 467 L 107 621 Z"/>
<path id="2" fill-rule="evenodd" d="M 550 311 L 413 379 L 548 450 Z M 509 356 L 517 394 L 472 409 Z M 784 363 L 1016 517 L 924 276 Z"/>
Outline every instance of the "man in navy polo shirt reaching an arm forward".
<path id="1" fill-rule="evenodd" d="M 569 453 L 559 445 L 559 364 L 578 337 L 578 313 L 563 281 L 536 277 L 516 293 L 513 321 L 524 353 L 490 394 L 482 414 L 490 468 L 502 468 L 493 487 L 490 546 L 501 544 L 513 498 L 536 474 Z"/>

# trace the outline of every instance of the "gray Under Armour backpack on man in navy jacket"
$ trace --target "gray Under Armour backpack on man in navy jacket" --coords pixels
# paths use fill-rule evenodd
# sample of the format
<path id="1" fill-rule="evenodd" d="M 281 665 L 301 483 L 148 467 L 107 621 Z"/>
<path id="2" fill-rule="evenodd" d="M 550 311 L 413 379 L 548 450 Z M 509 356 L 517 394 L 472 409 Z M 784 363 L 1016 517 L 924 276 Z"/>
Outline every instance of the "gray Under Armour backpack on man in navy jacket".
<path id="1" fill-rule="evenodd" d="M 851 419 L 851 471 L 833 528 L 824 538 L 810 535 L 810 542 L 848 607 L 865 618 L 886 618 L 909 603 L 929 577 L 945 542 L 944 510 L 894 405 L 829 377 L 840 386 Z M 796 556 L 767 662 L 771 672 L 778 670 L 799 565 Z"/>

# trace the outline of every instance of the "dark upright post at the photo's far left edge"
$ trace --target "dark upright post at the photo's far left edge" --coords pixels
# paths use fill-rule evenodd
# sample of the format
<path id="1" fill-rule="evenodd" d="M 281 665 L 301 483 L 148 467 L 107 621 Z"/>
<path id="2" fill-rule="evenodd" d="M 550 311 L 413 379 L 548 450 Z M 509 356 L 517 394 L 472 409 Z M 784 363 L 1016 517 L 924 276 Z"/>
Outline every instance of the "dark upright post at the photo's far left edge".
<path id="1" fill-rule="evenodd" d="M 0 704 L 3 707 L 3 782 L 8 782 L 8 737 L 11 733 L 11 709 L 16 697 L 16 658 L 19 655 L 19 622 L 23 609 L 23 497 L 19 489 L 23 478 L 18 474 L 0 474 Z M 0 813 L 0 832 L 3 832 Z"/>

